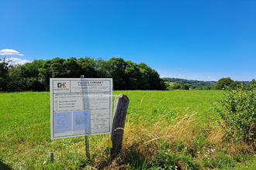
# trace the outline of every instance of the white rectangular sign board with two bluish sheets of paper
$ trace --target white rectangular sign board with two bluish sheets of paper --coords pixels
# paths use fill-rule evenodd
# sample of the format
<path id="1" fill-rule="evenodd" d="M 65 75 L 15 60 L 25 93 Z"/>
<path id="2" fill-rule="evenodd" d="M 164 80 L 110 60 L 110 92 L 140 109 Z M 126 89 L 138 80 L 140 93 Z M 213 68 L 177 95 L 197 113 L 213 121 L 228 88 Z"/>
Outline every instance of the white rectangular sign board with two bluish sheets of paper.
<path id="1" fill-rule="evenodd" d="M 51 78 L 51 139 L 110 134 L 112 79 Z"/>

